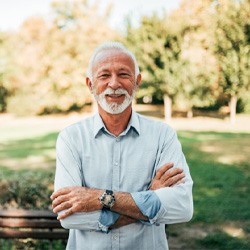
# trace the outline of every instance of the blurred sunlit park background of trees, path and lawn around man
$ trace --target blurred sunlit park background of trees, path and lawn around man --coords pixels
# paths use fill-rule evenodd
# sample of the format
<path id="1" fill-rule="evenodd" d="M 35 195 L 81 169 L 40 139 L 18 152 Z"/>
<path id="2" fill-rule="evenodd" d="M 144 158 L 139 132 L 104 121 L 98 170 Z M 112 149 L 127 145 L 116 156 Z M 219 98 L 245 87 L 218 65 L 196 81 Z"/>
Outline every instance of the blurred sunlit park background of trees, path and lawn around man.
<path id="1" fill-rule="evenodd" d="M 250 249 L 248 0 L 0 1 L 0 209 L 51 210 L 55 141 L 95 111 L 86 69 L 107 40 L 135 53 L 133 107 L 177 130 L 194 179 L 170 249 Z M 49 244 L 0 241 L 19 248 Z"/>

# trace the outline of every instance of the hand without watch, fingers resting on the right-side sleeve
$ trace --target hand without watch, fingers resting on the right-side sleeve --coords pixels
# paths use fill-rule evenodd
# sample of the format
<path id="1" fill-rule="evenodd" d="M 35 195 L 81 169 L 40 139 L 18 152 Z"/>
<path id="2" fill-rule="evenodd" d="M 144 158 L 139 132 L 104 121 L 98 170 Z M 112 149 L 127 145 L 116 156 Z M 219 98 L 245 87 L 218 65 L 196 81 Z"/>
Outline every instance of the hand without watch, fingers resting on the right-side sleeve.
<path id="1" fill-rule="evenodd" d="M 157 172 L 154 179 L 151 182 L 149 190 L 156 190 L 164 187 L 173 187 L 178 184 L 184 183 L 185 174 L 183 169 L 174 168 L 173 163 L 163 165 Z"/>

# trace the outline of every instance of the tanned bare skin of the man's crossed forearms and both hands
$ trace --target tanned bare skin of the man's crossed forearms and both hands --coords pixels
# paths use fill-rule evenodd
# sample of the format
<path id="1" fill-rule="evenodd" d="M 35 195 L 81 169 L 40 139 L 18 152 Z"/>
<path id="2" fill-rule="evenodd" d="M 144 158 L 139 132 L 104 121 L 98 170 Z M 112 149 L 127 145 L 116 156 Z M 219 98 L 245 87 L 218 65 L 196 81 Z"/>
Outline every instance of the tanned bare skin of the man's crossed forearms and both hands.
<path id="1" fill-rule="evenodd" d="M 176 186 L 184 183 L 185 175 L 180 168 L 173 168 L 173 164 L 165 164 L 156 173 L 150 186 L 150 190 L 157 190 L 164 187 Z M 51 195 L 52 208 L 55 213 L 60 213 L 58 219 L 64 219 L 77 212 L 93 212 L 101 210 L 102 206 L 99 197 L 104 190 L 86 187 L 66 187 L 59 189 Z M 137 207 L 130 193 L 115 192 L 116 203 L 112 211 L 120 214 L 119 219 L 111 228 L 118 228 L 137 220 L 148 218 L 142 214 Z"/>

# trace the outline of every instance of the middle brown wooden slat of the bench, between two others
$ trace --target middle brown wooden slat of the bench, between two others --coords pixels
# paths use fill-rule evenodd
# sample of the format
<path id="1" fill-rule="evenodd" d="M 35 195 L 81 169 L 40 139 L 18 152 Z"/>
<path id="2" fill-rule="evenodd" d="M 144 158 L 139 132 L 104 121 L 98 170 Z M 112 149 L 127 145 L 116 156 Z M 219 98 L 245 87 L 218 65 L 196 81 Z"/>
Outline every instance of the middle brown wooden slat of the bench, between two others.
<path id="1" fill-rule="evenodd" d="M 13 228 L 62 228 L 56 220 L 25 220 L 25 219 L 0 219 L 0 227 Z"/>

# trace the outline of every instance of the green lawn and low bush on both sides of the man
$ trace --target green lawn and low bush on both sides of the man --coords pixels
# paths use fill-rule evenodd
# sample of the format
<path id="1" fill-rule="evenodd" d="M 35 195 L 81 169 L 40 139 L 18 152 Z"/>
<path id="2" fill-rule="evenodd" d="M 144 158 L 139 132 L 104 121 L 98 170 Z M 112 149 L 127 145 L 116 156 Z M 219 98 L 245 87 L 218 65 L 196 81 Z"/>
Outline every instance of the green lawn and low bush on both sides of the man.
<path id="1" fill-rule="evenodd" d="M 23 132 L 22 132 L 23 130 Z M 26 135 L 24 128 L 12 130 Z M 0 204 L 49 208 L 56 131 L 0 128 Z M 32 133 L 34 132 L 34 133 Z M 167 227 L 170 249 L 250 249 L 250 133 L 178 131 L 194 180 L 194 217 Z"/>

